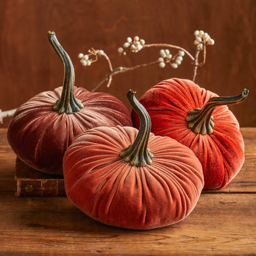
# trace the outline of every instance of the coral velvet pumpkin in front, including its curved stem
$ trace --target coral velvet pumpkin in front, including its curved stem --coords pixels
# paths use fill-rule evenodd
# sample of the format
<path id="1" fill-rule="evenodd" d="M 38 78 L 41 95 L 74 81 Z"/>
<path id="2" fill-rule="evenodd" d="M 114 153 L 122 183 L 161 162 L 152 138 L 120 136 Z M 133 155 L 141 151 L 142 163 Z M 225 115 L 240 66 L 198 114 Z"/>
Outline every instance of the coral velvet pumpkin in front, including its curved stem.
<path id="1" fill-rule="evenodd" d="M 95 220 L 158 228 L 194 209 L 204 184 L 202 166 L 188 147 L 150 133 L 150 118 L 134 93 L 127 97 L 140 115 L 140 130 L 96 127 L 78 135 L 63 158 L 65 188 Z"/>

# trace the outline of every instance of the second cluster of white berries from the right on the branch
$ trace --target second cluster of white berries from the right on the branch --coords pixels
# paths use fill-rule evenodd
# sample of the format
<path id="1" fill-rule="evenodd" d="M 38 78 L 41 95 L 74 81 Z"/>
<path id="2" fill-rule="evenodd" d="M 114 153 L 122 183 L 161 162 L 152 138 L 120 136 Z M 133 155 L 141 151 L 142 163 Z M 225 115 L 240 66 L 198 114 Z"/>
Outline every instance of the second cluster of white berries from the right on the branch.
<path id="1" fill-rule="evenodd" d="M 172 57 L 172 54 L 168 49 L 162 49 L 160 50 L 161 57 L 158 58 L 159 67 L 164 68 L 165 63 L 170 63 L 172 68 L 178 68 L 179 65 L 181 65 L 181 62 L 183 60 L 183 56 L 185 55 L 184 51 L 179 51 L 175 57 Z M 173 62 L 172 62 L 173 61 Z"/>

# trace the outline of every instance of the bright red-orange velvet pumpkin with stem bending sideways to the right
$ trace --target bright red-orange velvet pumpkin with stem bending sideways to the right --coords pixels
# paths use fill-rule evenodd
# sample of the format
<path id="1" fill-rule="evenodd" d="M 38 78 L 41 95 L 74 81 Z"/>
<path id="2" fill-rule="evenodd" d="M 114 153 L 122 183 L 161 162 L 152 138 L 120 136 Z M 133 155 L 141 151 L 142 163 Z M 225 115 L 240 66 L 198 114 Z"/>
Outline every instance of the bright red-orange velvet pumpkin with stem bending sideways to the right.
<path id="1" fill-rule="evenodd" d="M 248 90 L 233 97 L 199 87 L 187 79 L 168 79 L 140 98 L 155 135 L 168 136 L 194 151 L 203 166 L 204 188 L 225 187 L 244 163 L 244 141 L 239 123 L 226 105 L 242 102 Z M 132 111 L 134 127 L 139 117 Z"/>

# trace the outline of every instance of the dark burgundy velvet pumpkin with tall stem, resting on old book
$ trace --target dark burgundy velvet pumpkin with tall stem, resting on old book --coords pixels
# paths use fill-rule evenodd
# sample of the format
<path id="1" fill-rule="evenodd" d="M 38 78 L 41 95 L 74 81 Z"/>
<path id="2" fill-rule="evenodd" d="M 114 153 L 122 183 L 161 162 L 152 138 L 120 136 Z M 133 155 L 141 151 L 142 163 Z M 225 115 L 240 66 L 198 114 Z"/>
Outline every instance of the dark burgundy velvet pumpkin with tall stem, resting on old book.
<path id="1" fill-rule="evenodd" d="M 36 170 L 62 174 L 63 155 L 82 132 L 97 126 L 132 126 L 124 104 L 113 95 L 75 87 L 74 67 L 55 33 L 48 33 L 64 66 L 63 86 L 35 95 L 15 111 L 7 132 L 14 153 Z"/>

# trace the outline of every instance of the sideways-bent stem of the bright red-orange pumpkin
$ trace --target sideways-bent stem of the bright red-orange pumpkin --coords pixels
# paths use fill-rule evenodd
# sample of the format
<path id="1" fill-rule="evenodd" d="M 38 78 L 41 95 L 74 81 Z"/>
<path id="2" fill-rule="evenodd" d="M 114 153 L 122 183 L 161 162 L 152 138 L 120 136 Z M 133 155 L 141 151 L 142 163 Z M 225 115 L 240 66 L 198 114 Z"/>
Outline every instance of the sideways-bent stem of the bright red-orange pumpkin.
<path id="1" fill-rule="evenodd" d="M 229 97 L 213 97 L 211 98 L 204 107 L 196 108 L 195 110 L 190 110 L 186 121 L 188 123 L 188 128 L 195 133 L 201 134 L 212 134 L 213 133 L 213 110 L 215 107 L 221 105 L 232 105 L 243 102 L 249 90 L 244 89 L 239 95 L 229 96 Z"/>

